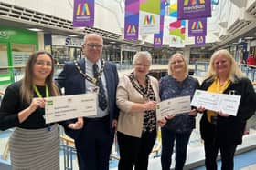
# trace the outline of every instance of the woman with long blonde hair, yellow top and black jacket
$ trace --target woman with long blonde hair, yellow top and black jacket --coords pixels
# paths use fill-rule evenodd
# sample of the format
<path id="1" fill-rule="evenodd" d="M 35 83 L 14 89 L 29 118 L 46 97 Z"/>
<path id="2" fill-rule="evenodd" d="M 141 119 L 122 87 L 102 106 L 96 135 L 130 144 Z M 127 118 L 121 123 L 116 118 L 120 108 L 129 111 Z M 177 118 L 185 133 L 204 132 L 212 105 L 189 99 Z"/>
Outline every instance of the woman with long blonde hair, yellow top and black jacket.
<path id="1" fill-rule="evenodd" d="M 246 121 L 256 109 L 256 95 L 251 81 L 242 75 L 227 50 L 216 51 L 211 56 L 207 75 L 200 87 L 202 90 L 241 96 L 237 116 L 205 110 L 204 105 L 197 108 L 203 111 L 200 133 L 204 140 L 206 168 L 217 170 L 216 159 L 220 150 L 221 169 L 232 170 L 234 154 L 237 145 L 242 142 Z"/>

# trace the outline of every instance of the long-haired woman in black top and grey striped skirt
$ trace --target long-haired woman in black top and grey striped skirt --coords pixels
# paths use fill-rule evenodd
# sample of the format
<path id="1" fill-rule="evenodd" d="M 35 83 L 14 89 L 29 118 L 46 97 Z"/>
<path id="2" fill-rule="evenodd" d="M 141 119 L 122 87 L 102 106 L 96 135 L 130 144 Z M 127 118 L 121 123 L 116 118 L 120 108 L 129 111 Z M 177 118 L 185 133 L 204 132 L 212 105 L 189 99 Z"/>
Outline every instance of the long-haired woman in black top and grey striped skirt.
<path id="1" fill-rule="evenodd" d="M 16 169 L 59 169 L 59 130 L 45 123 L 44 97 L 60 95 L 53 83 L 53 58 L 47 52 L 29 56 L 25 76 L 9 85 L 0 107 L 0 129 L 16 127 L 10 137 L 11 164 Z M 69 124 L 78 129 L 81 119 Z"/>

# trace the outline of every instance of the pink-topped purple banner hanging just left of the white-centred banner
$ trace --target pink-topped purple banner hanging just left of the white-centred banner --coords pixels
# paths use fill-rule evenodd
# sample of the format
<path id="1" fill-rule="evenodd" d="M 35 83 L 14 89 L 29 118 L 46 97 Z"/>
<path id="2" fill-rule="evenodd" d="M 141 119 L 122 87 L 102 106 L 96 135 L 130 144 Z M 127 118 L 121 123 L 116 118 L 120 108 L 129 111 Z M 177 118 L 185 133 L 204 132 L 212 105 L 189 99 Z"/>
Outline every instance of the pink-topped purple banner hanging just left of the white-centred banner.
<path id="1" fill-rule="evenodd" d="M 125 0 L 124 39 L 138 39 L 139 6 L 140 3 L 137 0 Z"/>

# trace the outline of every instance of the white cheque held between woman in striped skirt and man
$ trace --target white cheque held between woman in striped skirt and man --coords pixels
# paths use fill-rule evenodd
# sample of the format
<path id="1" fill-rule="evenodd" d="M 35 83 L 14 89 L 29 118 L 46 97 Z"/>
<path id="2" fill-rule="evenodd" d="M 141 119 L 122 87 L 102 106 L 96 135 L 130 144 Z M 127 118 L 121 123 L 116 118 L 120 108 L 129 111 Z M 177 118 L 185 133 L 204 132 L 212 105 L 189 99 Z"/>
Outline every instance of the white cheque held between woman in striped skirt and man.
<path id="1" fill-rule="evenodd" d="M 46 98 L 46 124 L 80 116 L 97 115 L 97 94 L 64 95 Z"/>

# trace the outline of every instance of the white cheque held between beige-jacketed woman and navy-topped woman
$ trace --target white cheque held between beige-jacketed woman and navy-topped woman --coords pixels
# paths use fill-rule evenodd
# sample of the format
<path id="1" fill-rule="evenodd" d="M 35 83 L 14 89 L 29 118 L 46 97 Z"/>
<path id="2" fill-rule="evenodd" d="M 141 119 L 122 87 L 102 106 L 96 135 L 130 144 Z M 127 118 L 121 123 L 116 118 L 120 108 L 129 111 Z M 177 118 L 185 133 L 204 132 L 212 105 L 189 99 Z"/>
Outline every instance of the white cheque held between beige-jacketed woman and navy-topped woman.
<path id="1" fill-rule="evenodd" d="M 190 96 L 181 96 L 167 99 L 156 105 L 156 119 L 165 118 L 166 115 L 178 115 L 188 113 L 191 110 Z"/>

